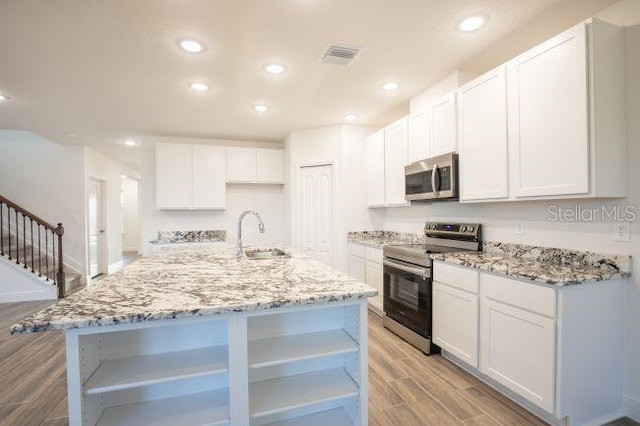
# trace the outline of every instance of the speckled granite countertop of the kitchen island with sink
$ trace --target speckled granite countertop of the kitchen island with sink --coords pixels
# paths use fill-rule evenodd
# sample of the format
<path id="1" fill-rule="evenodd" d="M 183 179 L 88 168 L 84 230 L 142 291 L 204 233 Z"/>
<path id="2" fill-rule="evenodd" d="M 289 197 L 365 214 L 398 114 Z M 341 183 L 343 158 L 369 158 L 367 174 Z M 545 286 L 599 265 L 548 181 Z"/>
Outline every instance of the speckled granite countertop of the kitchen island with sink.
<path id="1" fill-rule="evenodd" d="M 154 321 L 375 296 L 345 274 L 286 250 L 250 260 L 229 245 L 167 246 L 11 327 L 11 333 Z"/>

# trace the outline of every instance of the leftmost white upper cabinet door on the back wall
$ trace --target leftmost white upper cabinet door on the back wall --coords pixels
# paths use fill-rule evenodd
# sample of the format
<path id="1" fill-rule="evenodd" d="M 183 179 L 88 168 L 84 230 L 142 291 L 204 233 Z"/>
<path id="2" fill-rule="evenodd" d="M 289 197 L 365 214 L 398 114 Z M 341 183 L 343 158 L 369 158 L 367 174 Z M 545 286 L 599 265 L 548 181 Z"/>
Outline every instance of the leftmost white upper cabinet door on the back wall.
<path id="1" fill-rule="evenodd" d="M 156 208 L 191 208 L 191 146 L 156 145 Z"/>

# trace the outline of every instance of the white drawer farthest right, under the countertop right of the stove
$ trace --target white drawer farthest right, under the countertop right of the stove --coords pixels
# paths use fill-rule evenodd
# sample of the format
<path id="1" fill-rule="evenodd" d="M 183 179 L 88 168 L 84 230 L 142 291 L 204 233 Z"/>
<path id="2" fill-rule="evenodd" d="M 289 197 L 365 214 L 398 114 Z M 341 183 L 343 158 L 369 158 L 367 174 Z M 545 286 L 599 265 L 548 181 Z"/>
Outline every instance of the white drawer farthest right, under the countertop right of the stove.
<path id="1" fill-rule="evenodd" d="M 556 292 L 533 283 L 480 274 L 485 297 L 549 317 L 556 316 Z"/>

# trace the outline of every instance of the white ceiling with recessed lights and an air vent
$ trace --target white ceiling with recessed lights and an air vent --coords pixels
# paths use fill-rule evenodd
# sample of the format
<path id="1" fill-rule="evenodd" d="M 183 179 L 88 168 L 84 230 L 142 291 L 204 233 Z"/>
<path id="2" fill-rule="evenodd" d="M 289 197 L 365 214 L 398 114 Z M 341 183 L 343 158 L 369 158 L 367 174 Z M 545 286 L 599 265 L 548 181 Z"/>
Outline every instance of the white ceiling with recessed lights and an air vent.
<path id="1" fill-rule="evenodd" d="M 484 71 L 483 52 L 533 28 L 526 25 L 536 17 L 560 16 L 553 24 L 563 29 L 613 2 L 0 0 L 0 93 L 11 97 L 0 105 L 0 128 L 94 145 L 135 166 L 125 138 L 281 141 L 347 112 L 359 115 L 355 124 L 381 127 L 450 71 Z M 456 31 L 477 13 L 489 17 L 485 28 Z M 203 40 L 206 52 L 180 51 L 181 36 Z M 348 67 L 325 64 L 329 43 L 363 51 Z M 270 61 L 287 73 L 267 75 Z M 187 84 L 195 80 L 212 90 L 194 93 Z M 400 90 L 383 93 L 386 80 Z M 256 102 L 271 110 L 255 114 Z"/>

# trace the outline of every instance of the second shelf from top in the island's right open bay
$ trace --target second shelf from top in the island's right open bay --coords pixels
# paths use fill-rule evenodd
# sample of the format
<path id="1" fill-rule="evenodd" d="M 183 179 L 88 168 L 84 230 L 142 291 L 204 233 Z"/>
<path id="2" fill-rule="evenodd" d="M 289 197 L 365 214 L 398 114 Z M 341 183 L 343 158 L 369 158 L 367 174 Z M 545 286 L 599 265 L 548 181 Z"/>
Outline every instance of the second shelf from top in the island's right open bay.
<path id="1" fill-rule="evenodd" d="M 342 368 L 279 377 L 249 384 L 252 418 L 358 395 L 358 386 Z"/>

